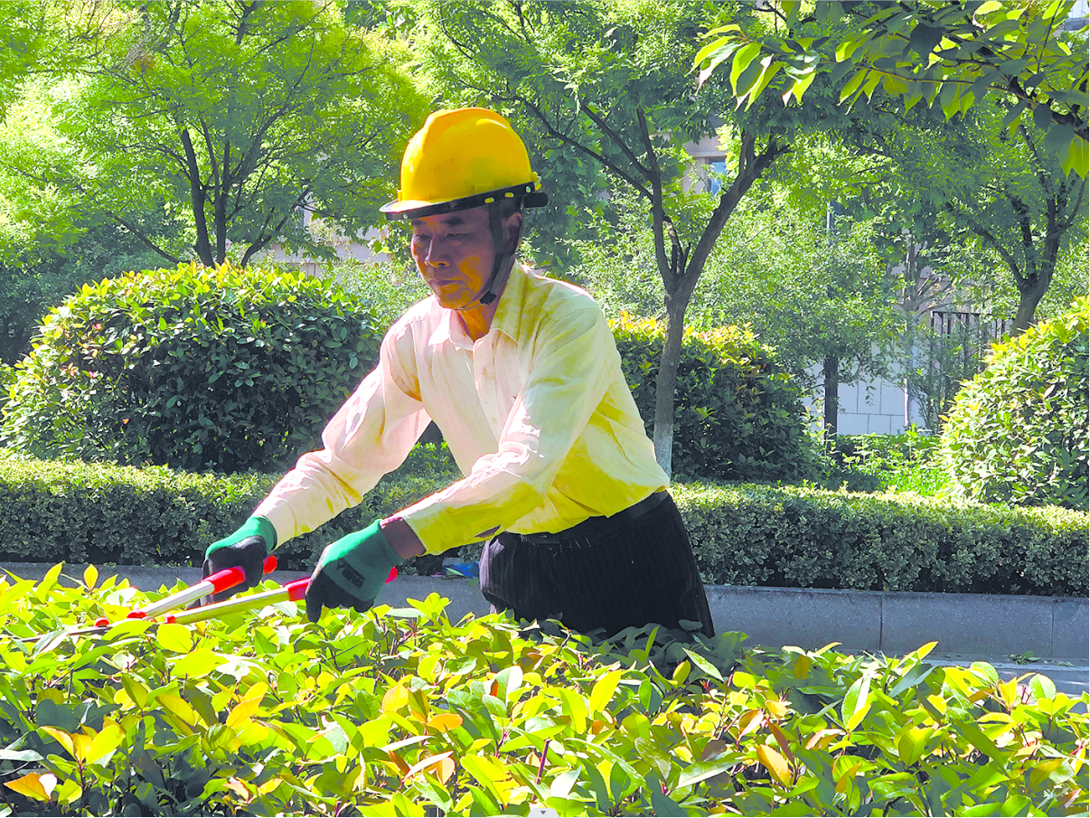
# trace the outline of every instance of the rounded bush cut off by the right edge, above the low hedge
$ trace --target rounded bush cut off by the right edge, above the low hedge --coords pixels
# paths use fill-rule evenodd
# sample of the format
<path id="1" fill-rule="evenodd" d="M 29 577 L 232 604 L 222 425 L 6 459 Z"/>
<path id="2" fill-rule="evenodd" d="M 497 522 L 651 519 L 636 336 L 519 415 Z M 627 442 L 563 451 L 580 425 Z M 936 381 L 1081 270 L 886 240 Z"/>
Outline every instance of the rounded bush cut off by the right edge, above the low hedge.
<path id="1" fill-rule="evenodd" d="M 943 429 L 950 482 L 970 500 L 1086 508 L 1090 498 L 1088 299 L 992 349 Z"/>

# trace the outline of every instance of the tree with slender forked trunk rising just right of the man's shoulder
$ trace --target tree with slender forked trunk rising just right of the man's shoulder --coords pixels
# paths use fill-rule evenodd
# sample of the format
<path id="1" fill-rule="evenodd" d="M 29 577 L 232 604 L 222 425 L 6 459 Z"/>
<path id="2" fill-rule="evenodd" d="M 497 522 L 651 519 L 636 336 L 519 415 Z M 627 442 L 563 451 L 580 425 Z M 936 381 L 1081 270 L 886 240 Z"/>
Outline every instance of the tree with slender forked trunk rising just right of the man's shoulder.
<path id="1" fill-rule="evenodd" d="M 790 149 L 800 109 L 759 106 L 722 129 L 734 154 L 717 197 L 682 184 L 687 141 L 716 132 L 729 110 L 720 84 L 695 94 L 688 67 L 704 25 L 746 23 L 749 7 L 591 2 L 432 3 L 416 7 L 424 69 L 448 103 L 487 104 L 540 140 L 549 194 L 564 213 L 566 175 L 549 163 L 578 165 L 638 194 L 652 227 L 664 285 L 666 341 L 655 389 L 653 440 L 670 472 L 674 392 L 693 289 L 727 219 L 753 183 Z M 819 104 L 820 95 L 812 103 Z M 604 178 L 589 191 L 608 190 Z M 585 191 L 584 191 L 585 192 Z M 577 212 L 578 213 L 578 212 Z"/>

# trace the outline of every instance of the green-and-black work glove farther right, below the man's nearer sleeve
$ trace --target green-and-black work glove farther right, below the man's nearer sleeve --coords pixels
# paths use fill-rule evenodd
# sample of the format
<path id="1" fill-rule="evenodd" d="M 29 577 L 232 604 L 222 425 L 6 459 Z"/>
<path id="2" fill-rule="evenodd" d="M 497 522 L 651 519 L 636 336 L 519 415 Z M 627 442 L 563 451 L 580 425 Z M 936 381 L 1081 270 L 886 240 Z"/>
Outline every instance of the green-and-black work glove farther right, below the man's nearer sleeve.
<path id="1" fill-rule="evenodd" d="M 401 562 L 378 520 L 327 545 L 306 589 L 306 618 L 317 622 L 323 608 L 366 611 Z"/>

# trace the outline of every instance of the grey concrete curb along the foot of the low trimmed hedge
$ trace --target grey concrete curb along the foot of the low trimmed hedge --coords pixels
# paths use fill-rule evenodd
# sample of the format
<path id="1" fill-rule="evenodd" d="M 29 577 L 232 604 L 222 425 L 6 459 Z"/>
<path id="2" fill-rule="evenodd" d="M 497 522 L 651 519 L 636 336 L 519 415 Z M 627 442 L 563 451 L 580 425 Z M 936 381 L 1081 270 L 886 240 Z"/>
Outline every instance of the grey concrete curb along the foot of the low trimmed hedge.
<path id="1" fill-rule="evenodd" d="M 46 563 L 0 563 L 0 576 L 40 579 Z M 83 565 L 69 565 L 63 576 L 77 582 Z M 190 585 L 198 568 L 97 566 L 105 579 L 118 575 L 141 590 Z M 274 572 L 286 582 L 303 576 Z M 906 593 L 800 588 L 707 586 L 712 618 L 719 631 L 747 634 L 758 645 L 813 650 L 840 642 L 844 650 L 900 654 L 937 641 L 944 653 L 1090 661 L 1090 600 L 1068 597 L 1017 597 L 972 593 Z M 488 613 L 477 584 L 467 579 L 401 577 L 379 594 L 378 603 L 403 608 L 408 599 L 439 593 L 450 600 L 448 616 Z"/>

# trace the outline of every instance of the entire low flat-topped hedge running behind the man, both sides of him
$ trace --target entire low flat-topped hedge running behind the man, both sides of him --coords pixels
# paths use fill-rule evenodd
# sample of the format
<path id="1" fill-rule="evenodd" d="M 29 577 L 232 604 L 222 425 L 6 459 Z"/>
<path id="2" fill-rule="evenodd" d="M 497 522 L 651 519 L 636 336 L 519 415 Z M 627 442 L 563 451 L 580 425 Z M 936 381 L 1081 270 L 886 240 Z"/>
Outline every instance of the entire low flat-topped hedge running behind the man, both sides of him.
<path id="1" fill-rule="evenodd" d="M 288 542 L 281 566 L 307 568 L 334 539 L 455 479 L 427 457 L 417 453 L 359 507 Z M 276 479 L 0 457 L 0 562 L 196 565 L 204 545 L 233 530 Z M 1082 512 L 760 484 L 671 491 L 706 582 L 1088 593 Z"/>

